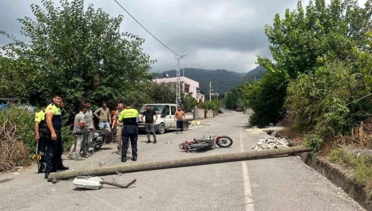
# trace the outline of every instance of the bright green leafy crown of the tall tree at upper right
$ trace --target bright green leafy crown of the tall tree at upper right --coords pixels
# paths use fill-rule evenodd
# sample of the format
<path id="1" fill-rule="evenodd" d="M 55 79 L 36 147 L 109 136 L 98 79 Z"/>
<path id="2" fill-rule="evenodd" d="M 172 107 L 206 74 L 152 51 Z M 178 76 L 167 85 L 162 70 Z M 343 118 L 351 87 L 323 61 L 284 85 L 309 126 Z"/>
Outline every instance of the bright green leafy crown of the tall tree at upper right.
<path id="1" fill-rule="evenodd" d="M 275 15 L 272 26 L 265 26 L 270 51 L 277 67 L 267 67 L 267 59 L 258 59 L 266 69 L 284 71 L 294 79 L 300 73 L 314 71 L 325 64 L 324 58 L 344 60 L 354 45 L 364 48 L 365 33 L 372 30 L 371 0 L 360 8 L 354 0 L 310 1 L 306 13 L 301 1 L 297 10 L 286 10 L 285 19 Z"/>

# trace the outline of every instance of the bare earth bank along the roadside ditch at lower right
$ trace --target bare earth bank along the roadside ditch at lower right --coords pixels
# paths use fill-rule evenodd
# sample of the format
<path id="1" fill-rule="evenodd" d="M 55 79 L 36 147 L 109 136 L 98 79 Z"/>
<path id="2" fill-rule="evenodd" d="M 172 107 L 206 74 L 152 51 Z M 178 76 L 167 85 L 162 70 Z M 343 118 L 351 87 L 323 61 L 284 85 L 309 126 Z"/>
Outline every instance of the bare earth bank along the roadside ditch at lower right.
<path id="1" fill-rule="evenodd" d="M 296 155 L 301 157 L 304 163 L 321 173 L 338 187 L 341 187 L 341 189 L 366 210 L 372 211 L 372 202 L 366 204 L 366 191 L 350 175 L 342 170 L 339 165 L 331 163 L 322 157 L 313 156 L 309 152 L 297 153 Z"/>

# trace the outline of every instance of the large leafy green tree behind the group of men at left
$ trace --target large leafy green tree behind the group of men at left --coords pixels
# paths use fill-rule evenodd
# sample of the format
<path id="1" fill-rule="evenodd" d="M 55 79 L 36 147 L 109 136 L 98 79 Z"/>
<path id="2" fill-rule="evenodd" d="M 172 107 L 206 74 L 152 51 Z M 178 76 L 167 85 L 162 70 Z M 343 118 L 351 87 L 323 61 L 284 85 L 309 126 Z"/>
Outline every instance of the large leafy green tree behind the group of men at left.
<path id="1" fill-rule="evenodd" d="M 117 100 L 125 91 L 149 85 L 154 61 L 143 53 L 140 37 L 121 33 L 123 16 L 112 18 L 83 0 L 32 4 L 35 19 L 18 19 L 29 42 L 13 40 L 3 46 L 7 57 L 16 59 L 25 89 L 19 94 L 32 104 L 64 94 L 67 110 L 76 110 L 83 99 L 94 103 Z"/>

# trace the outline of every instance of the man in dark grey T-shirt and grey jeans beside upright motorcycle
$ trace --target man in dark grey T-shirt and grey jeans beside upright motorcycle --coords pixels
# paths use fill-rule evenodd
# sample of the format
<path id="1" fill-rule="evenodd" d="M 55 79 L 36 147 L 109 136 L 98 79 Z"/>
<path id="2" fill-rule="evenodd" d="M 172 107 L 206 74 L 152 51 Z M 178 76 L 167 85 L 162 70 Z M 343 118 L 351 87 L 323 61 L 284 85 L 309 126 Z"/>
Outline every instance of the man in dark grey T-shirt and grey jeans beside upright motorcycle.
<path id="1" fill-rule="evenodd" d="M 87 125 L 86 128 L 83 130 L 83 148 L 82 152 L 84 153 L 84 157 L 88 158 L 91 154 L 88 153 L 90 142 L 93 137 L 93 133 L 96 132 L 95 121 L 93 120 L 93 112 L 90 110 L 90 100 L 84 101 L 84 108 L 86 109 L 86 113 L 84 115 L 84 124 Z"/>

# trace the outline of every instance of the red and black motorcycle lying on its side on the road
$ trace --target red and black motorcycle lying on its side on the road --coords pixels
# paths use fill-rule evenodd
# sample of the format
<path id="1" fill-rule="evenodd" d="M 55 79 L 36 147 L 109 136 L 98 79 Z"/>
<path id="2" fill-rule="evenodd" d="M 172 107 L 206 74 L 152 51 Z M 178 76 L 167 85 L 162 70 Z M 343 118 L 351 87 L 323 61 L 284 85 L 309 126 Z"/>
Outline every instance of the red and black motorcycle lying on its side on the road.
<path id="1" fill-rule="evenodd" d="M 230 147 L 233 141 L 228 136 L 209 136 L 203 138 L 195 138 L 193 141 L 185 141 L 178 145 L 179 149 L 186 150 L 189 152 L 191 149 L 200 151 L 212 150 L 216 148 L 216 145 L 222 148 Z"/>

